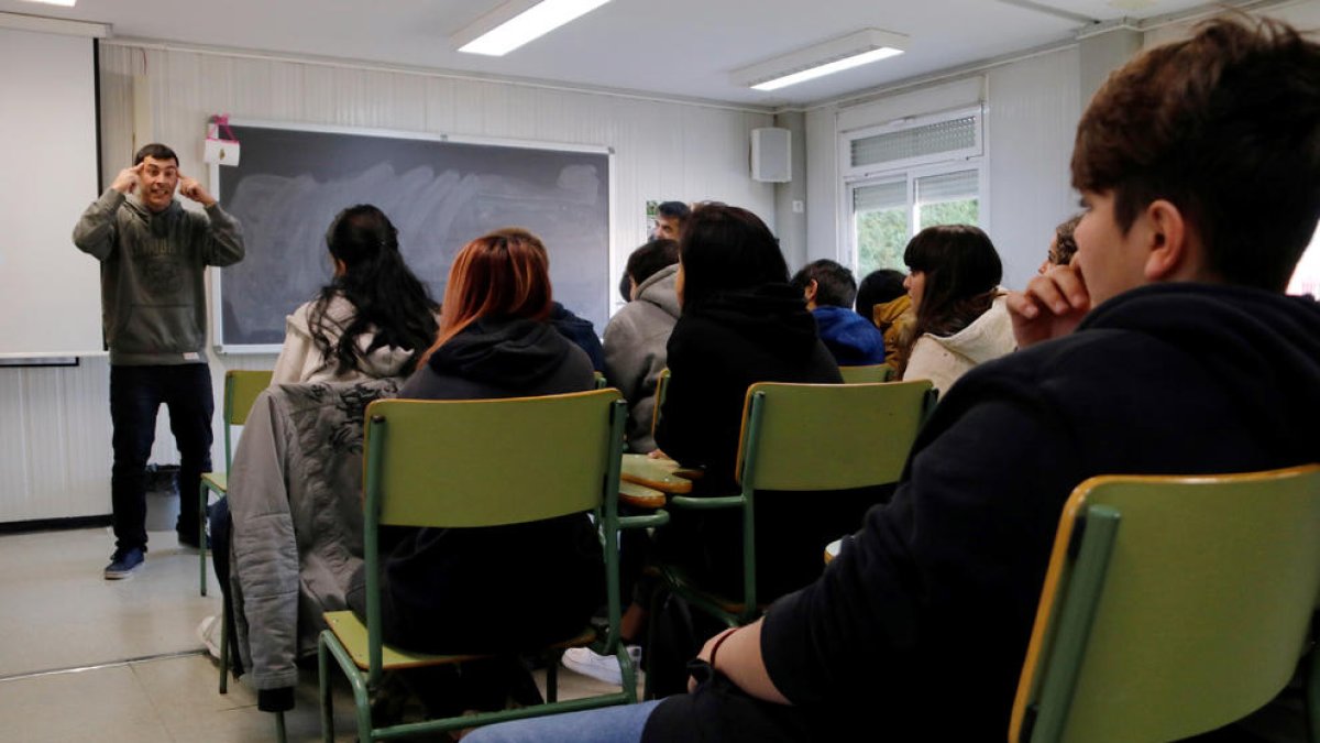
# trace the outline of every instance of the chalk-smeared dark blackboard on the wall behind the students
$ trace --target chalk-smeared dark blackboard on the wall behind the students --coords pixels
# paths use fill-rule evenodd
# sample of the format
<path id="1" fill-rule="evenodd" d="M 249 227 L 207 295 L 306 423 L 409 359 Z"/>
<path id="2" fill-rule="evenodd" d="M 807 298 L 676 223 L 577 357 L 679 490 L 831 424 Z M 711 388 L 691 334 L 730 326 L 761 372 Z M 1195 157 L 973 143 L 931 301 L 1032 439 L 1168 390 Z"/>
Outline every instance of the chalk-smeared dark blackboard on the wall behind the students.
<path id="1" fill-rule="evenodd" d="M 524 227 L 550 255 L 554 297 L 603 332 L 610 299 L 610 152 L 437 135 L 247 123 L 236 167 L 215 167 L 247 256 L 220 270 L 213 337 L 223 353 L 277 350 L 284 319 L 330 280 L 334 215 L 375 204 L 413 272 L 440 301 L 454 255 Z"/>

